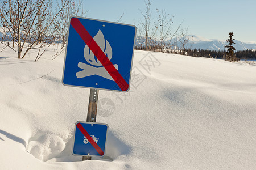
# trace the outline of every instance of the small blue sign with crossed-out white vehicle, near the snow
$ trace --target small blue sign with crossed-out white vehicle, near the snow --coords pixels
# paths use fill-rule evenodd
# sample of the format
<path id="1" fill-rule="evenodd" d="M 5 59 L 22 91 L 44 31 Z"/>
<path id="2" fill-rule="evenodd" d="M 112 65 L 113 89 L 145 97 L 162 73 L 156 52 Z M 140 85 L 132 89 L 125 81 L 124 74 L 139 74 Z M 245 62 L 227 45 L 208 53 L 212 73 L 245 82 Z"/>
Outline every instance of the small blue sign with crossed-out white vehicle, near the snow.
<path id="1" fill-rule="evenodd" d="M 72 154 L 104 156 L 107 134 L 107 124 L 76 122 Z"/>

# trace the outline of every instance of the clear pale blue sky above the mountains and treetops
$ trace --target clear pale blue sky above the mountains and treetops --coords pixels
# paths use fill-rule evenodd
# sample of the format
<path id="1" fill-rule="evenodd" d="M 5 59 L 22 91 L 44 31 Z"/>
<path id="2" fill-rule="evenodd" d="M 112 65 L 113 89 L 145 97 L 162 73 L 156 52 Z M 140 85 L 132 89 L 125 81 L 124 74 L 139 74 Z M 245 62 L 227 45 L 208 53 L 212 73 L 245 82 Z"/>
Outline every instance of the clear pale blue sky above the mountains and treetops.
<path id="1" fill-rule="evenodd" d="M 152 19 L 156 20 L 156 8 L 165 9 L 175 15 L 174 28 L 183 20 L 183 28 L 189 27 L 189 35 L 208 39 L 226 40 L 228 32 L 234 32 L 234 39 L 256 42 L 256 1 L 255 0 L 151 0 Z M 145 9 L 144 0 L 84 0 L 88 18 L 116 22 L 125 13 L 122 22 L 138 25 Z"/>

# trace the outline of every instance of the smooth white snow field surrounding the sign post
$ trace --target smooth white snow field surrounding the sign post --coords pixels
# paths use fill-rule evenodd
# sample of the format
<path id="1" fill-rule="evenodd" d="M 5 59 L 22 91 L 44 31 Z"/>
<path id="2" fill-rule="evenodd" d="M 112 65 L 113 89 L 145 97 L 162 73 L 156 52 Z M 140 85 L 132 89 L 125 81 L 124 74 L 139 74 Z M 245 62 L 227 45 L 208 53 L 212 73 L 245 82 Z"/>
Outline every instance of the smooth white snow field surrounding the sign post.
<path id="1" fill-rule="evenodd" d="M 0 53 L 0 169 L 255 169 L 255 64 L 135 50 L 130 91 L 99 92 L 114 103 L 97 116 L 106 156 L 82 162 L 72 137 L 89 89 L 63 86 L 53 49 Z"/>

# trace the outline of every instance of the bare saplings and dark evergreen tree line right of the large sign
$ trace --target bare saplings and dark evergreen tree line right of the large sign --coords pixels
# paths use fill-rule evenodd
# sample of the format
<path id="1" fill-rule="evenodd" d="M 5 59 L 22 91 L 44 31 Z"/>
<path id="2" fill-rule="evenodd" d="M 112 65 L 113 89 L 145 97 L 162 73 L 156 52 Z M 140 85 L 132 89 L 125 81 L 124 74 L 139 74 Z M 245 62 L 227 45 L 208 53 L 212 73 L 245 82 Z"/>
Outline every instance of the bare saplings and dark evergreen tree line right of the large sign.
<path id="1" fill-rule="evenodd" d="M 145 43 L 143 43 L 142 41 L 141 44 L 135 45 L 135 49 L 150 50 L 154 52 L 183 54 L 183 55 L 193 56 L 193 57 L 218 58 L 218 59 L 225 59 L 226 61 L 230 61 L 230 62 L 237 62 L 240 59 L 250 60 L 250 59 L 256 58 L 256 51 L 253 49 L 236 51 L 236 48 L 234 48 L 233 46 L 235 44 L 233 39 L 233 35 L 234 35 L 233 32 L 229 32 L 229 39 L 226 40 L 228 45 L 226 45 L 225 48 L 227 48 L 227 50 L 191 49 L 192 44 L 190 47 L 188 47 L 189 38 L 187 37 L 187 33 L 184 33 L 184 30 L 180 31 L 180 27 L 178 27 L 173 34 L 170 33 L 169 27 L 167 29 L 164 29 L 163 18 L 166 19 L 167 15 L 163 11 L 162 11 L 162 14 L 159 14 L 158 10 L 157 11 L 159 14 L 159 20 L 162 22 L 159 22 L 159 24 L 156 25 L 156 31 L 160 27 L 160 41 L 152 37 L 147 37 L 149 35 L 148 32 L 150 31 L 150 29 L 148 28 L 148 24 L 150 24 L 148 20 L 150 20 L 150 14 L 151 14 L 150 7 L 149 7 L 150 4 L 151 2 L 150 0 L 148 0 L 148 2 L 146 3 L 146 7 L 147 7 L 146 15 L 143 15 L 145 20 L 144 20 L 144 23 L 142 22 L 143 24 L 141 24 L 143 26 L 142 28 L 147 28 L 147 29 L 142 29 L 145 31 L 144 32 Z M 173 18 L 171 18 L 170 21 L 172 21 L 172 19 Z M 165 21 L 164 22 L 165 27 L 167 27 L 168 21 L 166 20 L 164 21 Z M 171 25 L 172 23 L 169 23 L 169 24 Z M 166 30 L 167 32 L 164 32 L 163 34 L 163 30 Z M 177 34 L 178 31 L 180 31 L 179 34 Z M 186 31 L 188 31 L 188 29 Z M 170 37 L 170 36 L 171 36 L 171 39 L 169 39 L 168 41 L 164 41 L 166 40 L 166 37 Z M 176 37 L 174 38 L 174 36 Z M 191 37 L 190 41 L 193 41 L 193 37 Z"/>

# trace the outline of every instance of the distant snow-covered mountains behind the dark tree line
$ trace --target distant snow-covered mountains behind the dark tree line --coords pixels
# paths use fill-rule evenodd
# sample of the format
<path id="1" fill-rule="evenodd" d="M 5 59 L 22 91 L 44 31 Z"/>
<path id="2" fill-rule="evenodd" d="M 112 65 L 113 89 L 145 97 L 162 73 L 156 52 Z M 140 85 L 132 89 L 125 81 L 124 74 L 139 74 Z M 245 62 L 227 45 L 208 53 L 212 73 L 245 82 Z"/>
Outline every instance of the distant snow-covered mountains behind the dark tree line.
<path id="1" fill-rule="evenodd" d="M 224 46 L 228 45 L 226 41 L 220 41 L 216 39 L 207 39 L 205 37 L 200 37 L 200 36 L 187 36 L 188 43 L 186 45 L 187 48 L 192 48 L 192 49 L 209 49 L 209 50 L 224 50 Z M 176 39 L 173 40 L 174 42 Z M 250 43 L 245 43 L 239 40 L 234 40 L 236 43 L 234 47 L 236 50 L 247 50 L 247 49 L 256 49 L 256 44 L 250 44 Z M 137 36 L 136 39 L 136 45 L 144 45 L 144 37 Z M 177 46 L 181 46 L 180 42 L 177 41 Z"/>

